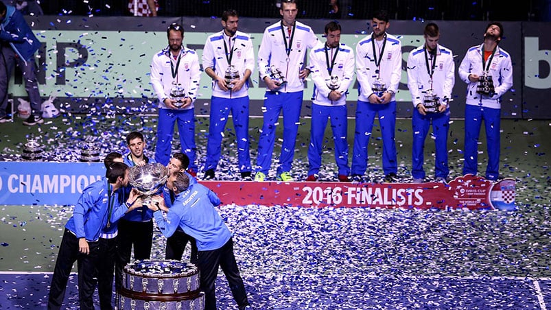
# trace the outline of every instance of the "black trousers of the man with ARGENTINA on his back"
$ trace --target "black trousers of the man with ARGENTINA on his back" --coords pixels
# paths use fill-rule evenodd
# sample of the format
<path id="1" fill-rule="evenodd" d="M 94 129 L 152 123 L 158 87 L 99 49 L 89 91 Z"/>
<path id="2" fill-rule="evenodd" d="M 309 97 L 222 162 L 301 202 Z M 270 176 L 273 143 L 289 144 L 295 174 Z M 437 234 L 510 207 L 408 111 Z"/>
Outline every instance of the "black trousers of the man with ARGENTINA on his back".
<path id="1" fill-rule="evenodd" d="M 233 299 L 243 309 L 248 305 L 247 294 L 243 279 L 239 275 L 239 268 L 233 254 L 233 239 L 229 239 L 222 248 L 211 251 L 198 252 L 198 267 L 200 271 L 200 287 L 204 291 L 204 309 L 216 309 L 215 281 L 218 266 L 222 267 L 224 275 L 230 285 Z"/>

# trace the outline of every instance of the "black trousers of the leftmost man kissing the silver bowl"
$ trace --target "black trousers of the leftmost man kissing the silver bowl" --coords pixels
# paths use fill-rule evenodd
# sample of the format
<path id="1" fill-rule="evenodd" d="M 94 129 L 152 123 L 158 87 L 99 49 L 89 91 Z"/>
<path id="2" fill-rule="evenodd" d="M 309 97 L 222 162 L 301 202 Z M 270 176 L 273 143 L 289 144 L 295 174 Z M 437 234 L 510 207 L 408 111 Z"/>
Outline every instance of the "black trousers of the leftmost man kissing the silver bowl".
<path id="1" fill-rule="evenodd" d="M 65 229 L 59 247 L 54 275 L 51 277 L 51 285 L 48 297 L 48 309 L 61 309 L 69 274 L 73 263 L 78 262 L 78 300 L 80 309 L 94 309 L 92 296 L 94 294 L 96 280 L 97 257 L 99 255 L 99 241 L 89 242 L 90 254 L 82 254 L 78 251 L 78 238 L 68 229 Z"/>

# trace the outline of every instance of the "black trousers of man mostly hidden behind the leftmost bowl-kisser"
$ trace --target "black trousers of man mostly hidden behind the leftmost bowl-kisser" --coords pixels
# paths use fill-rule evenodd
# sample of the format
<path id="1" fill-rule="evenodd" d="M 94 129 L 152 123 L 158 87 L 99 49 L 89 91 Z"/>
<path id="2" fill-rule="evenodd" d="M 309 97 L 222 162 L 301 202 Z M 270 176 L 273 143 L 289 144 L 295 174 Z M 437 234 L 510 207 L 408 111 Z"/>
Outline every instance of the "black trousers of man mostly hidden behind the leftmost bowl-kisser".
<path id="1" fill-rule="evenodd" d="M 99 238 L 99 259 L 97 263 L 97 294 L 102 310 L 113 310 L 113 278 L 117 259 L 117 237 Z"/>

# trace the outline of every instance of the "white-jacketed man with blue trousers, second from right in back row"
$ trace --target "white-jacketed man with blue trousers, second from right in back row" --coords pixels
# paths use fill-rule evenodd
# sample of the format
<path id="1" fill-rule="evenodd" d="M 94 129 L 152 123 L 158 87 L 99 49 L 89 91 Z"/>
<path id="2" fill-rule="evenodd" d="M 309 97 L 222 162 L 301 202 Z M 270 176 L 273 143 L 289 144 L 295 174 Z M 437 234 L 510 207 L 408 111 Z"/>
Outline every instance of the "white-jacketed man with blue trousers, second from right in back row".
<path id="1" fill-rule="evenodd" d="M 423 33 L 425 44 L 408 56 L 408 88 L 413 102 L 412 176 L 414 183 L 425 178 L 425 139 L 432 124 L 436 148 L 436 182 L 447 182 L 447 133 L 449 131 L 449 99 L 455 83 L 454 53 L 438 44 L 440 30 L 428 23 Z"/>

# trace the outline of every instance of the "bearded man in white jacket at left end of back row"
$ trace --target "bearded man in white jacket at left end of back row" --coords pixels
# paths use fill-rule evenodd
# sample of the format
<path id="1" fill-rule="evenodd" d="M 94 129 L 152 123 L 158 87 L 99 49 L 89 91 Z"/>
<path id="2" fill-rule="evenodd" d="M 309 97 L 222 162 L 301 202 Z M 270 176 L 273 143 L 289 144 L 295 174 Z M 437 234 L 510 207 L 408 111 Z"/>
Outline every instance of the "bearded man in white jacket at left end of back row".
<path id="1" fill-rule="evenodd" d="M 168 164 L 172 149 L 174 123 L 178 123 L 182 152 L 189 157 L 189 172 L 197 173 L 195 163 L 194 101 L 199 90 L 201 71 L 196 51 L 183 45 L 184 27 L 172 23 L 167 29 L 168 47 L 153 56 L 151 84 L 159 98 L 159 123 L 155 161 Z"/>

